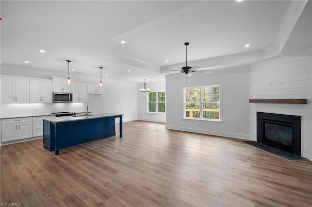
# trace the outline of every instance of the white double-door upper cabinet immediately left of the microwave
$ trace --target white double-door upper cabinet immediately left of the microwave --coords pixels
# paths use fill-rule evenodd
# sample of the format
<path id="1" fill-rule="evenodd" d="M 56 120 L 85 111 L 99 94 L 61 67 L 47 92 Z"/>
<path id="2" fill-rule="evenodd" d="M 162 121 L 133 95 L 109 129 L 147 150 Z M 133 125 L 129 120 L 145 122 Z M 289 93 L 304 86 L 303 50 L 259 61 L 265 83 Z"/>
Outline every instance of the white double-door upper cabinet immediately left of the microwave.
<path id="1" fill-rule="evenodd" d="M 30 79 L 29 80 L 29 102 L 30 103 L 52 103 L 53 92 L 52 80 Z"/>

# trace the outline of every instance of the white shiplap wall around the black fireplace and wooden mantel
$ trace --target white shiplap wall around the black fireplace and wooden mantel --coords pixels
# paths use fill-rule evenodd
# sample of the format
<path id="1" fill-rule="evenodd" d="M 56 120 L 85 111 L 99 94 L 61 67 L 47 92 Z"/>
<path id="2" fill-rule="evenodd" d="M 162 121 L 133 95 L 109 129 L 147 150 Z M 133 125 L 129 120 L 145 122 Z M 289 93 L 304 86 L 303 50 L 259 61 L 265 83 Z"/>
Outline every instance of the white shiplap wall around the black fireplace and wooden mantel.
<path id="1" fill-rule="evenodd" d="M 250 104 L 251 138 L 256 140 L 256 112 L 302 117 L 301 156 L 312 160 L 312 52 L 283 55 L 251 66 L 251 99 L 307 99 L 307 104 Z"/>

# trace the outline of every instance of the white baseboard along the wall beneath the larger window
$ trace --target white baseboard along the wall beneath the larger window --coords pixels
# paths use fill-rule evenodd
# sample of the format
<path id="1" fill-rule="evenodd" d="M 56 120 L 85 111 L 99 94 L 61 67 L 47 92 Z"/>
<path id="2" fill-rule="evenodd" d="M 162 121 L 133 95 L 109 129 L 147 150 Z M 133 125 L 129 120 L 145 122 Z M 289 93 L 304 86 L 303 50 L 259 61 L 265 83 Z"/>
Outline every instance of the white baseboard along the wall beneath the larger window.
<path id="1" fill-rule="evenodd" d="M 241 134 L 234 134 L 234 133 L 227 133 L 227 132 L 216 132 L 216 131 L 210 131 L 210 130 L 176 127 L 176 126 L 169 126 L 169 125 L 166 125 L 166 129 L 174 129 L 174 130 L 185 131 L 185 132 L 194 132 L 194 133 L 200 133 L 200 134 L 206 134 L 206 135 L 215 135 L 215 136 L 221 136 L 221 137 L 241 138 L 241 139 L 251 140 L 250 135 L 241 135 Z"/>

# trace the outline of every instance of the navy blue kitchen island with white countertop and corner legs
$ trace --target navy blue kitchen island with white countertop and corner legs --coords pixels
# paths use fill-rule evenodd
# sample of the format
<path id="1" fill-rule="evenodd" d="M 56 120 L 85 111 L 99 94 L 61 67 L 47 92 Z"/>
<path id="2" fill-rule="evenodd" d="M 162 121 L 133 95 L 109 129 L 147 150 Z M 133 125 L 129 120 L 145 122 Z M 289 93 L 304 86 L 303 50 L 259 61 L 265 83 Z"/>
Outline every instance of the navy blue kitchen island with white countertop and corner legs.
<path id="1" fill-rule="evenodd" d="M 116 135 L 115 118 L 119 118 L 122 138 L 123 114 L 92 114 L 43 119 L 43 148 L 59 155 L 59 149 Z"/>

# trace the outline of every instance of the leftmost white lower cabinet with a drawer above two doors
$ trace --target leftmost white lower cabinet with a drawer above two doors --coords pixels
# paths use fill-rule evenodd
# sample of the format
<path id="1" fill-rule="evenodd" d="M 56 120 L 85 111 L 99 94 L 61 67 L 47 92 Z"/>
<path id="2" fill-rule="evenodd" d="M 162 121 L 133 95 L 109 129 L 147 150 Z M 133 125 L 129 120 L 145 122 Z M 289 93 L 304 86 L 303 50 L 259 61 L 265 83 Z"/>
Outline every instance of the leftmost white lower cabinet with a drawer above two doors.
<path id="1" fill-rule="evenodd" d="M 12 141 L 32 137 L 32 118 L 3 119 L 1 124 L 1 141 Z"/>

